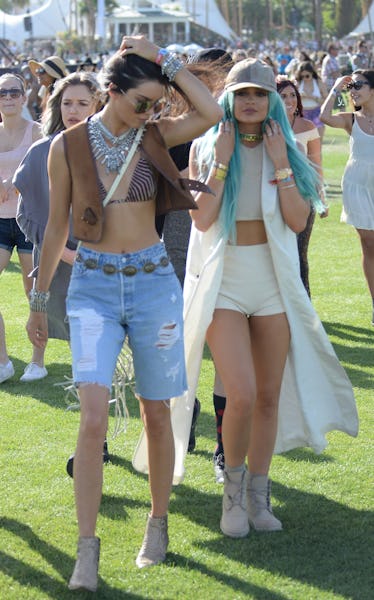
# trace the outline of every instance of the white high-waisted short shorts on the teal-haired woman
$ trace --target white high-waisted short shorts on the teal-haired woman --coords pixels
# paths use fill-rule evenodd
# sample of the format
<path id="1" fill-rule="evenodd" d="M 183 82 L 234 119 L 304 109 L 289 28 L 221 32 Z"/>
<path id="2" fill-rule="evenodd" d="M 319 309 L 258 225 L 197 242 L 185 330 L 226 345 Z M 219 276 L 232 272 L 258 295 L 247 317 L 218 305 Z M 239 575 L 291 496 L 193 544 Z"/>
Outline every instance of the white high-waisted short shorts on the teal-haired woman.
<path id="1" fill-rule="evenodd" d="M 226 246 L 216 308 L 247 316 L 285 312 L 268 244 Z"/>

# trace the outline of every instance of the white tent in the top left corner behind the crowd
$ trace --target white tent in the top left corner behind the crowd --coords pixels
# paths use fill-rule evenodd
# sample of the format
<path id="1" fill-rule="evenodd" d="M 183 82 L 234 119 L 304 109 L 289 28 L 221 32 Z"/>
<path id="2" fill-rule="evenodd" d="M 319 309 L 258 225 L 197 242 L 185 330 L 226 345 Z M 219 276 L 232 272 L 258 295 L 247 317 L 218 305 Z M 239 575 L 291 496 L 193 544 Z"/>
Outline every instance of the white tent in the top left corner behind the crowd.
<path id="1" fill-rule="evenodd" d="M 55 38 L 57 32 L 69 28 L 69 6 L 69 0 L 48 0 L 41 8 L 31 10 L 27 14 L 8 15 L 0 10 L 1 37 L 22 46 L 30 37 L 30 33 L 25 31 L 24 17 L 30 16 L 33 38 Z"/>

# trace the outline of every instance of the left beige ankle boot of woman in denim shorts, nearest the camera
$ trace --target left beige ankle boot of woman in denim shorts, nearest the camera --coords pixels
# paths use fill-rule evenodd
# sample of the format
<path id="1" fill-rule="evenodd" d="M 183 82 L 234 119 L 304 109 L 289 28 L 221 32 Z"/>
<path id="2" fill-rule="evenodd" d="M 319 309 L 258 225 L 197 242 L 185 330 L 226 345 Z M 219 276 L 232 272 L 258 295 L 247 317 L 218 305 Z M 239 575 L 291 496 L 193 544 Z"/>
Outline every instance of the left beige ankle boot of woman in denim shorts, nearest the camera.
<path id="1" fill-rule="evenodd" d="M 80 537 L 77 560 L 68 585 L 69 590 L 83 588 L 90 592 L 96 592 L 99 557 L 100 539 L 97 537 Z"/>

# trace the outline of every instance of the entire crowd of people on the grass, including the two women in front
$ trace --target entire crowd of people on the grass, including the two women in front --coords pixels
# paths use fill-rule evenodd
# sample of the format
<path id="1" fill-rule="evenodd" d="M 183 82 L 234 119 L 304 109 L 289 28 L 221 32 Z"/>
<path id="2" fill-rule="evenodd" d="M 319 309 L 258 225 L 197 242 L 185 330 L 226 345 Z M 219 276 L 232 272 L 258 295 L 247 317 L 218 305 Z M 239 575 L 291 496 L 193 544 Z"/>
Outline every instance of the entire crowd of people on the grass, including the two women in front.
<path id="1" fill-rule="evenodd" d="M 342 220 L 360 236 L 374 324 L 374 71 L 357 50 L 342 73 L 336 44 L 319 64 L 287 47 L 185 60 L 125 36 L 96 72 L 86 61 L 69 74 L 51 55 L 0 77 L 0 267 L 16 248 L 30 298 L 33 353 L 21 380 L 47 377 L 48 338 L 68 340 L 81 407 L 70 589 L 97 589 L 102 451 L 126 341 L 144 424 L 133 464 L 151 495 L 139 568 L 166 557 L 205 343 L 224 535 L 282 529 L 270 500 L 274 452 L 320 452 L 331 429 L 357 434 L 307 257 L 315 216 L 328 215 L 328 124 L 350 135 Z M 5 340 L 0 316 L 0 383 L 15 374 Z"/>

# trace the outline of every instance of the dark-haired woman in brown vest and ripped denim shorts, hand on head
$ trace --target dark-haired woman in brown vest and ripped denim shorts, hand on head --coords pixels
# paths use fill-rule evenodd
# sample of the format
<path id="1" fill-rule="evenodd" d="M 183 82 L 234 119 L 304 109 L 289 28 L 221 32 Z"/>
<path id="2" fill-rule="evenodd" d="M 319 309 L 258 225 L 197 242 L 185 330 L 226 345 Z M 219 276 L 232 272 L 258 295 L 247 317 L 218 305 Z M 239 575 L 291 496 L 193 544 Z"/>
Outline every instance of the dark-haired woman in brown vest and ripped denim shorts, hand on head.
<path id="1" fill-rule="evenodd" d="M 102 493 L 102 448 L 117 357 L 128 337 L 135 392 L 147 436 L 152 505 L 139 568 L 163 562 L 174 468 L 169 399 L 187 387 L 182 291 L 155 228 L 155 215 L 195 208 L 167 151 L 199 137 L 222 116 L 208 89 L 166 49 L 125 36 L 103 67 L 103 110 L 52 142 L 50 214 L 39 274 L 30 297 L 30 339 L 47 341 L 48 288 L 65 246 L 72 207 L 81 241 L 68 290 L 73 378 L 81 421 L 74 458 L 79 525 L 70 589 L 97 588 L 100 540 L 95 536 Z M 150 120 L 160 100 L 179 90 L 190 110 Z M 206 190 L 206 186 L 203 186 Z"/>

